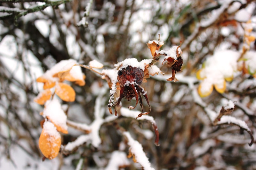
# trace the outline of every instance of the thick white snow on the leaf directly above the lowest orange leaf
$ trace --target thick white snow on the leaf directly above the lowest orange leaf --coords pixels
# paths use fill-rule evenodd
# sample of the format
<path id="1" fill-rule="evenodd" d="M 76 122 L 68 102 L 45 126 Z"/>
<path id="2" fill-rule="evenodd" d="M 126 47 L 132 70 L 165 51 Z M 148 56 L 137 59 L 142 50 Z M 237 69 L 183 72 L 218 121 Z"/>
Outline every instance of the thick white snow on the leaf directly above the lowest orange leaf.
<path id="1" fill-rule="evenodd" d="M 51 122 L 57 124 L 61 128 L 68 129 L 68 126 L 66 124 L 67 115 L 62 110 L 58 99 L 48 100 L 45 103 L 43 116 L 49 117 L 49 119 L 51 119 Z"/>

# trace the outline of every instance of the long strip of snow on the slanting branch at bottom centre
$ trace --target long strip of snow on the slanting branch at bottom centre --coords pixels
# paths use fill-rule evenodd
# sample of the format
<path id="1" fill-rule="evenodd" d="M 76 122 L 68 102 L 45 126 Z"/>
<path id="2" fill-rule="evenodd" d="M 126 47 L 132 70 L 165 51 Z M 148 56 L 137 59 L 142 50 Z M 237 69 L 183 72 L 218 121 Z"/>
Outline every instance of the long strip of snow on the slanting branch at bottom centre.
<path id="1" fill-rule="evenodd" d="M 143 151 L 143 148 L 141 144 L 134 140 L 129 132 L 123 132 L 124 136 L 128 139 L 128 145 L 130 146 L 129 150 L 134 154 L 136 161 L 143 166 L 143 169 L 145 170 L 154 170 L 154 168 L 151 167 L 150 162 L 148 161 L 148 158 Z"/>

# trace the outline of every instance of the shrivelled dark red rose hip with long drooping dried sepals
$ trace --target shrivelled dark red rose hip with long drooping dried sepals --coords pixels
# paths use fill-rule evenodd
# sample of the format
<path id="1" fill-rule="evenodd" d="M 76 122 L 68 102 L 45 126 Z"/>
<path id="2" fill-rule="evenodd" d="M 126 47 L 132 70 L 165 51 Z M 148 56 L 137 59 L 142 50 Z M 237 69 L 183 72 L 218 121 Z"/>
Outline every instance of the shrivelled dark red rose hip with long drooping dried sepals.
<path id="1" fill-rule="evenodd" d="M 123 98 L 127 99 L 128 101 L 131 101 L 132 98 L 136 98 L 135 106 L 134 107 L 129 106 L 128 108 L 134 109 L 137 106 L 139 101 L 142 111 L 138 115 L 138 117 L 148 114 L 151 110 L 151 107 L 148 101 L 147 92 L 145 92 L 144 89 L 140 87 L 143 77 L 144 77 L 144 70 L 142 70 L 139 67 L 128 65 L 124 68 L 121 68 L 117 73 L 117 80 L 121 86 L 120 96 L 114 105 L 112 106 L 109 105 L 110 109 L 112 107 L 115 108 L 117 105 L 119 105 Z M 140 93 L 145 97 L 148 103 L 149 112 L 143 113 L 143 103 L 142 103 Z M 115 115 L 116 115 L 116 111 L 115 111 Z"/>

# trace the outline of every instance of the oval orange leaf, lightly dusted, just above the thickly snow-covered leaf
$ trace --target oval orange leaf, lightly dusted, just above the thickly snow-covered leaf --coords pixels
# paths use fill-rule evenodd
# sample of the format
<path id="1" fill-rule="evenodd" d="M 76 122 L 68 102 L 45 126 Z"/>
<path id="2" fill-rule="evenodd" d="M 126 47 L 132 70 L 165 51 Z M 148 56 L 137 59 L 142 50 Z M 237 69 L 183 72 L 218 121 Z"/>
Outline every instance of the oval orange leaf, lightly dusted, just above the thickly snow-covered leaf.
<path id="1" fill-rule="evenodd" d="M 65 83 L 58 83 L 55 87 L 55 93 L 60 97 L 61 100 L 73 102 L 76 98 L 75 90 Z"/>

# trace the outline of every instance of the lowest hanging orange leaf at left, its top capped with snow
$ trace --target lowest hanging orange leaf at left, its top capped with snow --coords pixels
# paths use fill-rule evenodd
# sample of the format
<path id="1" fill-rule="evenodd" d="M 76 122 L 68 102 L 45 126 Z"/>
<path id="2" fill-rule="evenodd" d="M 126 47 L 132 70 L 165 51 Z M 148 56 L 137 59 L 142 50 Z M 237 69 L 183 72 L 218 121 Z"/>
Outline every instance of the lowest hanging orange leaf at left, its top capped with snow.
<path id="1" fill-rule="evenodd" d="M 46 158 L 53 159 L 60 151 L 60 133 L 51 122 L 44 122 L 43 126 L 38 142 L 39 148 Z"/>

